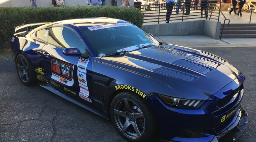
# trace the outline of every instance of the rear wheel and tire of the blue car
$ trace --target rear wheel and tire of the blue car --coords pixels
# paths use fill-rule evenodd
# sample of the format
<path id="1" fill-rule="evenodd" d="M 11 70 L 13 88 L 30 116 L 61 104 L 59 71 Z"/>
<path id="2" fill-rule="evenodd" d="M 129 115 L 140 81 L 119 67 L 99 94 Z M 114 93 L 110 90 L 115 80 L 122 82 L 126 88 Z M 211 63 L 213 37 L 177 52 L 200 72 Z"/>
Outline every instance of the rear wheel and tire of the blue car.
<path id="1" fill-rule="evenodd" d="M 24 55 L 18 55 L 16 58 L 16 71 L 22 84 L 26 86 L 36 85 L 36 75 L 32 64 Z"/>

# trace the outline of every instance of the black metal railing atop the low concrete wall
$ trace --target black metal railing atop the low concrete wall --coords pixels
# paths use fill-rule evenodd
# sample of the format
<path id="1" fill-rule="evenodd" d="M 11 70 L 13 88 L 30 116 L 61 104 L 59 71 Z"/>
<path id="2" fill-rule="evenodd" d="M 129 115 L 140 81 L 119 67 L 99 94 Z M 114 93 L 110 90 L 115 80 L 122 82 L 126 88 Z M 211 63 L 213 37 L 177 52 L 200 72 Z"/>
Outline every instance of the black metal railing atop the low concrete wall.
<path id="1" fill-rule="evenodd" d="M 174 20 L 187 19 L 220 19 L 221 2 L 215 0 L 197 0 L 197 1 L 179 1 L 171 3 L 158 3 L 156 1 L 147 2 L 141 5 L 141 2 L 135 2 L 134 7 L 140 8 L 145 12 L 144 22 L 169 22 Z M 171 12 L 170 12 L 171 11 Z M 169 19 L 170 17 L 170 19 Z"/>

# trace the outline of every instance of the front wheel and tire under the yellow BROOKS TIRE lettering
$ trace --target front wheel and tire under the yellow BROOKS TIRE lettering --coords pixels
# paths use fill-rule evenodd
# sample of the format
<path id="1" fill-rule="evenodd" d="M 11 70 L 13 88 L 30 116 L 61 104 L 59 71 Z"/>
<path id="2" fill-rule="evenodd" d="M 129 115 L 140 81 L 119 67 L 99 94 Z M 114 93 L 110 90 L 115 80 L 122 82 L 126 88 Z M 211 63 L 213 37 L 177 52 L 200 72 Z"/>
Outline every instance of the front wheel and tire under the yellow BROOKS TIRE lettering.
<path id="1" fill-rule="evenodd" d="M 140 96 L 130 92 L 118 93 L 112 100 L 110 109 L 112 122 L 124 139 L 143 142 L 156 135 L 156 118 Z"/>

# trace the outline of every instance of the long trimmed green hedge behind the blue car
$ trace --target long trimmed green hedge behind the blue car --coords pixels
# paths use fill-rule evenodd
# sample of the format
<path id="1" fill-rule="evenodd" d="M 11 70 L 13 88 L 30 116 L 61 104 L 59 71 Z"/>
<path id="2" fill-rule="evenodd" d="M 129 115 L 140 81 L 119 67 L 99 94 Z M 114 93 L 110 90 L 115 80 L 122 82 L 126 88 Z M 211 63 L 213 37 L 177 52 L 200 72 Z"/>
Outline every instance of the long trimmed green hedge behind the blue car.
<path id="1" fill-rule="evenodd" d="M 143 24 L 143 13 L 138 8 L 114 6 L 0 7 L 0 44 L 10 42 L 14 28 L 19 25 L 90 17 L 123 19 L 139 27 Z"/>

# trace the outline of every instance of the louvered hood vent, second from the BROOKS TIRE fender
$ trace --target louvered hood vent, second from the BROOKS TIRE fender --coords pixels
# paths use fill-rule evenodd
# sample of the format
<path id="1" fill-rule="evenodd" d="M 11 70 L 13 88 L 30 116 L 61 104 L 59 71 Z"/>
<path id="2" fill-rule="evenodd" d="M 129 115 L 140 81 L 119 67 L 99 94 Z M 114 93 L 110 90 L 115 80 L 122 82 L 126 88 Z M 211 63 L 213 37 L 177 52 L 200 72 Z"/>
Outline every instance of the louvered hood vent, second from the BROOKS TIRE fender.
<path id="1" fill-rule="evenodd" d="M 172 63 L 180 65 L 180 66 L 183 66 L 183 67 L 186 67 L 186 68 L 189 68 L 189 69 L 192 69 L 194 71 L 201 72 L 203 74 L 206 74 L 206 73 L 212 71 L 211 68 L 208 68 L 208 67 L 206 67 L 204 65 L 197 64 L 197 63 L 185 60 L 185 59 L 179 59 L 179 60 L 176 60 L 176 61 L 174 61 Z"/>

